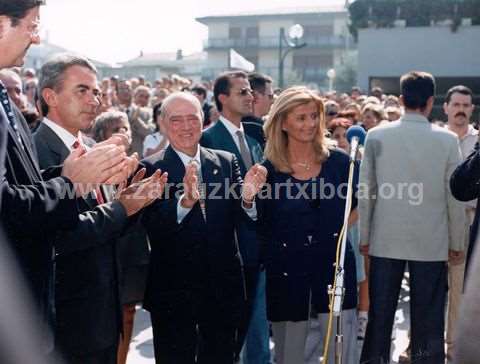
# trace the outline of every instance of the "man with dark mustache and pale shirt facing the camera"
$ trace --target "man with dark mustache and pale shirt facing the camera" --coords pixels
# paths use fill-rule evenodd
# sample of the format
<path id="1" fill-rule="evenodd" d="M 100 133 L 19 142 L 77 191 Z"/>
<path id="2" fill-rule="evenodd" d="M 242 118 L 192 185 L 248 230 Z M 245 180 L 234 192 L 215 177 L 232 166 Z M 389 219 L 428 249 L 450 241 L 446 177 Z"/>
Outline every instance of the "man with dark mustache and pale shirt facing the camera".
<path id="1" fill-rule="evenodd" d="M 478 130 L 470 124 L 474 105 L 472 90 L 465 86 L 454 86 L 447 92 L 443 110 L 448 117 L 447 129 L 454 132 L 459 139 L 462 158 L 465 160 L 473 151 L 478 141 Z M 476 201 L 465 203 L 467 211 L 467 226 L 465 226 L 465 247 L 468 246 L 469 226 L 475 216 Z M 448 316 L 447 316 L 447 357 L 452 357 L 454 330 L 460 308 L 463 291 L 465 262 L 448 265 Z"/>

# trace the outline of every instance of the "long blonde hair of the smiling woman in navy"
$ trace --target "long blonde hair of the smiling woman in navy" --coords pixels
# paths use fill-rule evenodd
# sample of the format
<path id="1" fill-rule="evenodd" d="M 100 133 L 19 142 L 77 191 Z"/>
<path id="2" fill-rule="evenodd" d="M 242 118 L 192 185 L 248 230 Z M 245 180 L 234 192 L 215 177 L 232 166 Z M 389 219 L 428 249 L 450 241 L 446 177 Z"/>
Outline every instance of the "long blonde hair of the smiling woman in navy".
<path id="1" fill-rule="evenodd" d="M 267 144 L 265 158 L 276 170 L 292 173 L 293 169 L 288 161 L 288 135 L 282 130 L 282 124 L 294 108 L 314 102 L 318 109 L 320 123 L 317 135 L 313 140 L 316 162 L 321 163 L 328 158 L 329 142 L 325 137 L 325 115 L 323 101 L 313 91 L 306 87 L 290 87 L 283 91 L 272 105 L 267 121 L 263 126 Z"/>

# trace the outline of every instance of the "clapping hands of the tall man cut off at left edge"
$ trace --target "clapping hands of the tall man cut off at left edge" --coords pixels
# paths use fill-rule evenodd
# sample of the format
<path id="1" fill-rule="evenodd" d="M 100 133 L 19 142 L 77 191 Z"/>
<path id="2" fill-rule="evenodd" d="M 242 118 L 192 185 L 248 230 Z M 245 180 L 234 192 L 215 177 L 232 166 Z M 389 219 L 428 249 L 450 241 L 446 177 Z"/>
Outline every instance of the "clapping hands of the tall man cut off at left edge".
<path id="1" fill-rule="evenodd" d="M 62 176 L 67 177 L 75 186 L 77 197 L 83 196 L 102 183 L 120 183 L 114 177 L 125 175 L 128 163 L 125 162 L 125 148 L 110 144 L 91 149 L 73 150 L 63 162 Z M 126 178 L 124 178 L 126 179 Z M 123 179 L 123 180 L 124 180 Z"/>

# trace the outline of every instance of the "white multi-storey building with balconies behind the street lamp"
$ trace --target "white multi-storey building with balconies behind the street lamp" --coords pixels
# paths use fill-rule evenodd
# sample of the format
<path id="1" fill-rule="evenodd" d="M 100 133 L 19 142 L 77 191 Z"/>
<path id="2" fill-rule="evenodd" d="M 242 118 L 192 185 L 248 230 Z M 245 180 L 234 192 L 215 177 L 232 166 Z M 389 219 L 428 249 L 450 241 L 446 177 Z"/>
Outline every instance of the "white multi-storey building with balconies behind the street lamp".
<path id="1" fill-rule="evenodd" d="M 229 68 L 229 50 L 235 49 L 260 72 L 278 79 L 280 29 L 300 24 L 307 46 L 288 54 L 284 64 L 285 84 L 326 84 L 326 73 L 345 60 L 355 48 L 343 6 L 284 8 L 197 18 L 208 26 L 208 68 L 204 78 L 215 78 Z"/>

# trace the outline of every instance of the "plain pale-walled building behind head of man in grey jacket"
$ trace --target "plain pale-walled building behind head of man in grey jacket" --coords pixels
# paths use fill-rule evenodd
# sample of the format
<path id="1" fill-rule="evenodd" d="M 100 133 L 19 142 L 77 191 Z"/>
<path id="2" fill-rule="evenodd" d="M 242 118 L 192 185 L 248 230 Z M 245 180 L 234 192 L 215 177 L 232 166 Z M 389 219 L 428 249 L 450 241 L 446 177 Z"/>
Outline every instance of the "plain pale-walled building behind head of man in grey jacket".
<path id="1" fill-rule="evenodd" d="M 440 94 L 453 85 L 480 90 L 480 26 L 395 27 L 359 30 L 359 85 L 398 93 L 399 78 L 411 70 L 433 74 Z"/>

